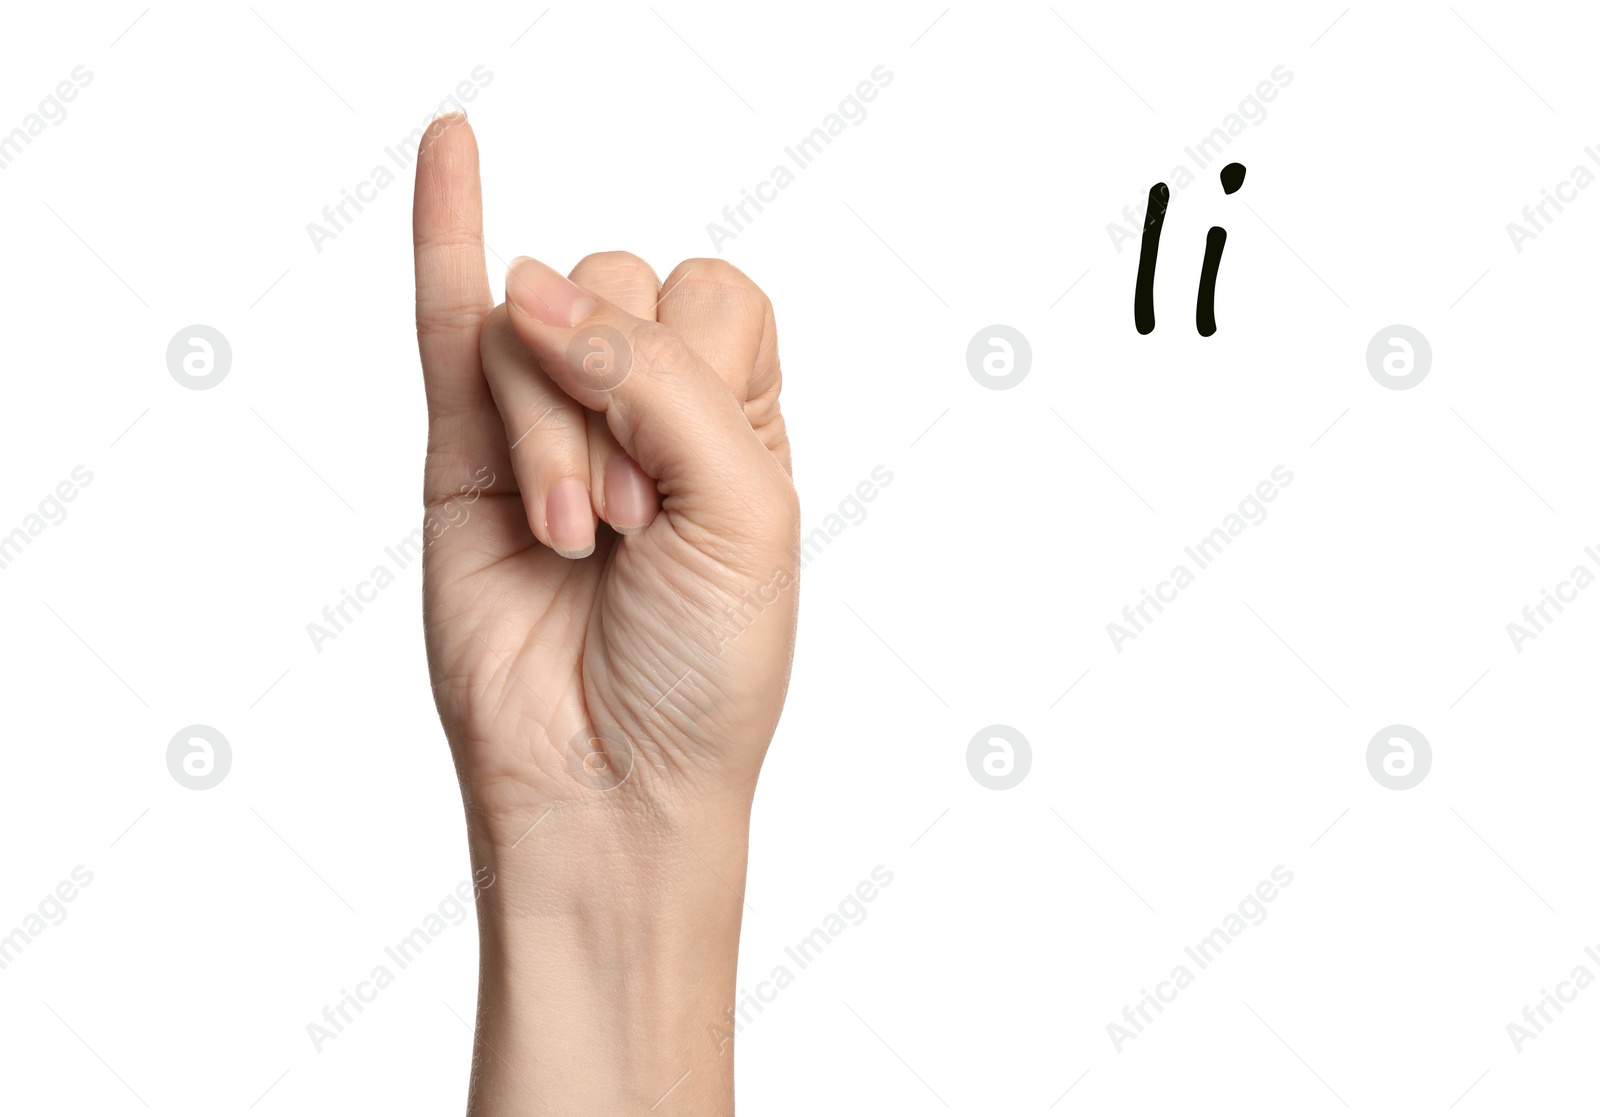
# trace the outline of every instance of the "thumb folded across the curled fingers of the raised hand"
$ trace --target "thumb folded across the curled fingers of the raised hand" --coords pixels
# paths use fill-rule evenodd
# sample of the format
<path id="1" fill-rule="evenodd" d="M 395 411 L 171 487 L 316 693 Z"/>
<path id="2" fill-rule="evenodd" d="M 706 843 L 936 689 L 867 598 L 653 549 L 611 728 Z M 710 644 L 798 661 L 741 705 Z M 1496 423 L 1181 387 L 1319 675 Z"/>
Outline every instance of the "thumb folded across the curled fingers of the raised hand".
<path id="1" fill-rule="evenodd" d="M 662 491 L 662 510 L 717 536 L 789 542 L 794 488 L 726 382 L 670 326 L 637 318 L 552 267 L 506 272 L 510 323 L 573 400 L 605 413 Z"/>

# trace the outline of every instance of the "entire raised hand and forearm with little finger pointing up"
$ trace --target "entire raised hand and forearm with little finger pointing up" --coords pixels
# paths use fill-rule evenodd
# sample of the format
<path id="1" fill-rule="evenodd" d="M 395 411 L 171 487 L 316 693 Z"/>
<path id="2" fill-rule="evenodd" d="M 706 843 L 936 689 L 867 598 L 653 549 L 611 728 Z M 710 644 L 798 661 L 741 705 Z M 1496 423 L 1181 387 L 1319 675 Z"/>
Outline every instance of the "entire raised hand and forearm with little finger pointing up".
<path id="1" fill-rule="evenodd" d="M 469 1112 L 731 1114 L 714 1031 L 797 613 L 771 306 L 616 251 L 517 258 L 496 306 L 462 117 L 414 237 L 427 655 L 493 874 Z"/>

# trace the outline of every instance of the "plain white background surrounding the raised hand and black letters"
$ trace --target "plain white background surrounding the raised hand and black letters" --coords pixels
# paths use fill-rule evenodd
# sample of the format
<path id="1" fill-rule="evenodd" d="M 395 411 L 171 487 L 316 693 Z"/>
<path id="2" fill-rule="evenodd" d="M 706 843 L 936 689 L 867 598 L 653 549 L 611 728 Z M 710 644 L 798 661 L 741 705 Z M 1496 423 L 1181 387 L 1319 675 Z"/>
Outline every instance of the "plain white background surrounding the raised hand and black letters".
<path id="1" fill-rule="evenodd" d="M 722 245 L 778 307 L 806 530 L 893 472 L 805 571 L 741 981 L 875 866 L 894 880 L 741 1034 L 744 1112 L 1589 1096 L 1600 992 L 1520 1055 L 1507 1024 L 1600 975 L 1600 591 L 1520 651 L 1506 626 L 1600 573 L 1600 189 L 1522 253 L 1506 224 L 1600 141 L 1594 16 L 541 11 L 6 11 L 0 131 L 75 66 L 93 80 L 0 171 L 0 533 L 75 466 L 93 482 L 0 570 L 0 933 L 74 866 L 93 883 L 0 971 L 0 1109 L 462 1104 L 470 919 L 322 1053 L 306 1031 L 469 874 L 419 570 L 320 651 L 306 631 L 419 522 L 410 174 L 320 253 L 306 226 L 477 66 L 499 261 L 627 248 L 662 275 L 893 72 Z M 1141 338 L 1138 245 L 1107 222 L 1278 66 L 1293 80 L 1227 149 L 1245 187 L 1224 197 L 1218 163 L 1174 190 Z M 232 344 L 211 390 L 166 370 L 194 323 Z M 966 368 L 990 323 L 1032 344 L 1011 390 Z M 1366 368 L 1392 323 L 1432 342 L 1411 390 Z M 1107 623 L 1275 466 L 1294 480 L 1266 522 L 1115 650 Z M 192 723 L 232 746 L 206 792 L 166 771 Z M 1032 744 L 1005 792 L 966 767 L 992 723 Z M 1392 723 L 1434 752 L 1405 792 L 1366 768 Z M 1123 1005 L 1280 864 L 1269 919 L 1118 1053 Z"/>

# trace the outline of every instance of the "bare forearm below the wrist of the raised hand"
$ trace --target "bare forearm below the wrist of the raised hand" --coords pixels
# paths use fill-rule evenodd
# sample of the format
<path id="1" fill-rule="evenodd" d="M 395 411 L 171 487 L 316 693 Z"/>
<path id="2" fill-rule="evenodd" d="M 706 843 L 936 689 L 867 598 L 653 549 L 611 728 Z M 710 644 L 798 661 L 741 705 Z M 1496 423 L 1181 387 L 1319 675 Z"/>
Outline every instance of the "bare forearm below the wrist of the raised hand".
<path id="1" fill-rule="evenodd" d="M 474 835 L 480 986 L 469 1114 L 733 1114 L 746 818 L 618 834 L 552 810 Z M 546 1109 L 547 1107 L 547 1109 Z"/>

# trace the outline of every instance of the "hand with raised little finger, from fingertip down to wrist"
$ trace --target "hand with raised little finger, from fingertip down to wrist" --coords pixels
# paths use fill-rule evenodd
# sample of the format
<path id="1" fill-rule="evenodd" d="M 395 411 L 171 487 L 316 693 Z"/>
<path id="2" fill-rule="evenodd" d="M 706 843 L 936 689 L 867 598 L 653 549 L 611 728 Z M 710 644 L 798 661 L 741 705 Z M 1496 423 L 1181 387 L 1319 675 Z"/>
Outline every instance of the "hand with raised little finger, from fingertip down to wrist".
<path id="1" fill-rule="evenodd" d="M 750 794 L 787 685 L 798 515 L 773 312 L 722 261 L 661 285 L 626 253 L 571 282 L 518 259 L 491 312 L 475 163 L 445 118 L 418 171 L 440 715 L 496 834 L 568 805 L 683 821 Z"/>

